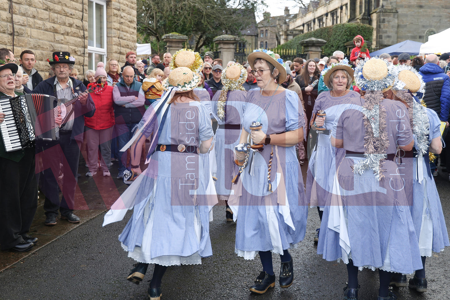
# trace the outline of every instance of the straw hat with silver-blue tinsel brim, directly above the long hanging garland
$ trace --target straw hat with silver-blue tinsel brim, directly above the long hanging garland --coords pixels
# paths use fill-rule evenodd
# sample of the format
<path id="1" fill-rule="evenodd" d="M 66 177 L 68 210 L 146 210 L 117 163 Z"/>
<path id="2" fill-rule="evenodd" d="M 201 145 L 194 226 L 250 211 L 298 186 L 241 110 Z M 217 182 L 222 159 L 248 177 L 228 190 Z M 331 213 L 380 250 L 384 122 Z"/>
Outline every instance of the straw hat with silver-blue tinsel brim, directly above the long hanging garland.
<path id="1" fill-rule="evenodd" d="M 361 91 L 387 91 L 394 83 L 393 66 L 378 57 L 366 58 L 355 68 L 355 83 Z"/>

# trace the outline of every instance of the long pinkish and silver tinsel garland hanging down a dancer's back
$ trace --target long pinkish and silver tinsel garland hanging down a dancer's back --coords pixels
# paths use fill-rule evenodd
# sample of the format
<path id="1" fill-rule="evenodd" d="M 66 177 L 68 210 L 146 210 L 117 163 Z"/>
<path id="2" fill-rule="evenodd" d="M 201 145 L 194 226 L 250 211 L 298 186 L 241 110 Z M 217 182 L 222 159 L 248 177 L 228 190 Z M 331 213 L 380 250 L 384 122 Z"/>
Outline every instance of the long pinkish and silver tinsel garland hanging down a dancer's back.
<path id="1" fill-rule="evenodd" d="M 372 169 L 375 178 L 380 181 L 384 177 L 383 168 L 386 152 L 389 146 L 386 125 L 386 109 L 380 105 L 384 100 L 381 91 L 367 91 L 365 94 L 364 113 L 364 160 L 353 165 L 355 174 L 363 174 L 365 170 Z"/>

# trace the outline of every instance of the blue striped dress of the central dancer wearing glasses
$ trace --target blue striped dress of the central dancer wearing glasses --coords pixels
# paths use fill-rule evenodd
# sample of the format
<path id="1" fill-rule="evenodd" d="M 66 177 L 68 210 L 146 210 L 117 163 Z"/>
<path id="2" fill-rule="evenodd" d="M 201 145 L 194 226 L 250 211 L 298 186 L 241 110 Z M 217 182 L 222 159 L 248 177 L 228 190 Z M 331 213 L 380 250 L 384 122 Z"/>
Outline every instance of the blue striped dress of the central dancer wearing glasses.
<path id="1" fill-rule="evenodd" d="M 266 134 L 299 128 L 306 132 L 302 103 L 293 91 L 266 97 L 260 95 L 259 88 L 249 90 L 243 129 L 250 132 L 250 124 L 259 117 Z M 271 149 L 271 145 L 265 145 L 261 152 L 251 151 L 251 163 L 229 197 L 228 204 L 237 219 L 235 251 L 245 259 L 253 259 L 256 251 L 282 254 L 302 241 L 306 232 L 308 205 L 295 146 L 273 146 L 273 192 L 268 191 L 267 180 Z"/>

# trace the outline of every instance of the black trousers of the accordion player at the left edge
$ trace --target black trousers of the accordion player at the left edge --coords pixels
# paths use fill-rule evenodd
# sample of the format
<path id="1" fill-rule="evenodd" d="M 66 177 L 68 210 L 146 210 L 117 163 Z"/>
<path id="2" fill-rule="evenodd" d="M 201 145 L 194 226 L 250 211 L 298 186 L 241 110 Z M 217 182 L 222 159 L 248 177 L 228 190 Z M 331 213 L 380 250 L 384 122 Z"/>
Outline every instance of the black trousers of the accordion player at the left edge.
<path id="1" fill-rule="evenodd" d="M 0 158 L 0 246 L 14 247 L 30 231 L 37 209 L 35 150 L 25 150 L 25 156 L 15 162 Z"/>

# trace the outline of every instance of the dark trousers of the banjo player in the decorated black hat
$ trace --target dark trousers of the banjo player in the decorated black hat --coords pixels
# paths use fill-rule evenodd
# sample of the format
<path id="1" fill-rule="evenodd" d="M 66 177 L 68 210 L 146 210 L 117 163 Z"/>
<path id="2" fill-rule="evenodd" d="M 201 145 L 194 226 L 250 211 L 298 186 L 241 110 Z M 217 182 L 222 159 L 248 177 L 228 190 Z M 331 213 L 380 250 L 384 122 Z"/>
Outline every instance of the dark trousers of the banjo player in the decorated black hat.
<path id="1" fill-rule="evenodd" d="M 79 142 L 70 139 L 70 133 L 60 133 L 59 143 L 40 145 L 37 148 L 37 156 L 41 159 L 40 171 L 41 191 L 45 195 L 45 215 L 58 215 L 58 209 L 62 216 L 72 213 L 75 206 L 76 173 L 80 160 Z M 62 164 L 63 183 L 58 185 L 58 176 Z M 61 183 L 61 182 L 60 182 Z M 59 201 L 59 189 L 63 193 Z"/>

